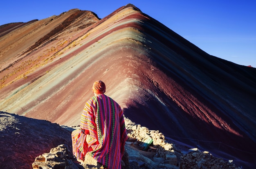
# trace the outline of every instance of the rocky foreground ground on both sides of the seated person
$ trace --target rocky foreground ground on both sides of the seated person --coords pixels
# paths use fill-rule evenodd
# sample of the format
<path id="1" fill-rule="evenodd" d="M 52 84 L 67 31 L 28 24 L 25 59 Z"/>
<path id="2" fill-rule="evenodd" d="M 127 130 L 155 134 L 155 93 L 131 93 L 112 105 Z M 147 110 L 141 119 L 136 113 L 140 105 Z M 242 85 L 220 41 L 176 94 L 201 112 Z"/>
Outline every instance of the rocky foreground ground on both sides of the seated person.
<path id="1" fill-rule="evenodd" d="M 96 169 L 86 162 L 77 162 L 72 156 L 70 133 L 76 127 L 0 112 L 0 168 Z M 159 131 L 149 130 L 129 119 L 126 119 L 126 128 L 129 139 L 125 146 L 124 169 L 239 168 L 207 151 L 168 143 Z"/>

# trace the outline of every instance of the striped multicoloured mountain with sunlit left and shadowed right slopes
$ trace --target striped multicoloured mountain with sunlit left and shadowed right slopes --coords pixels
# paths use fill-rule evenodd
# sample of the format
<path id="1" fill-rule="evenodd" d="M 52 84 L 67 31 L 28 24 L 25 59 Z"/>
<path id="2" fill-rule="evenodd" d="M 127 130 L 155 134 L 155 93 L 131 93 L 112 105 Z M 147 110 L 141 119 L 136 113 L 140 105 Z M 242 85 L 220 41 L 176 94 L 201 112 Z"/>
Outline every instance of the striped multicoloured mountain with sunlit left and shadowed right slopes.
<path id="1" fill-rule="evenodd" d="M 78 125 L 99 79 L 135 123 L 256 160 L 256 68 L 205 53 L 132 4 L 0 26 L 1 111 Z"/>

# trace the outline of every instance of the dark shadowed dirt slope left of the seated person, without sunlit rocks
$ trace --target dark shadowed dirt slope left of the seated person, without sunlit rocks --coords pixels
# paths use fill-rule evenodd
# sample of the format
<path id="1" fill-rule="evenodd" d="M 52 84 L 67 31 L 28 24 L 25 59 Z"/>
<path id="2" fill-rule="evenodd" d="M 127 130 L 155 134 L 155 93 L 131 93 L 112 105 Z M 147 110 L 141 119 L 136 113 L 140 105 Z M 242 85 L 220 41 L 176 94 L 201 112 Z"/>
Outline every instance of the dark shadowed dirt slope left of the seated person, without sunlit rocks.
<path id="1" fill-rule="evenodd" d="M 70 143 L 70 131 L 56 123 L 0 112 L 1 169 L 32 168 L 36 156 Z"/>

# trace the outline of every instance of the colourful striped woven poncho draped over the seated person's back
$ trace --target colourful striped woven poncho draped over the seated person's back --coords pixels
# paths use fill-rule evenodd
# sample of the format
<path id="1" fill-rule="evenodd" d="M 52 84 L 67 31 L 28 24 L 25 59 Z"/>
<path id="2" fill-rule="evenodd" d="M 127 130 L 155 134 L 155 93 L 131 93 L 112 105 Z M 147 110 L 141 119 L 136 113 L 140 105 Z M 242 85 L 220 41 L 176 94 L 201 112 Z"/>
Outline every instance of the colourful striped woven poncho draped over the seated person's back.
<path id="1" fill-rule="evenodd" d="M 121 169 L 128 137 L 120 105 L 105 94 L 92 97 L 83 109 L 80 128 L 84 134 L 81 130 L 72 132 L 76 158 L 84 160 L 87 153 L 108 169 Z"/>

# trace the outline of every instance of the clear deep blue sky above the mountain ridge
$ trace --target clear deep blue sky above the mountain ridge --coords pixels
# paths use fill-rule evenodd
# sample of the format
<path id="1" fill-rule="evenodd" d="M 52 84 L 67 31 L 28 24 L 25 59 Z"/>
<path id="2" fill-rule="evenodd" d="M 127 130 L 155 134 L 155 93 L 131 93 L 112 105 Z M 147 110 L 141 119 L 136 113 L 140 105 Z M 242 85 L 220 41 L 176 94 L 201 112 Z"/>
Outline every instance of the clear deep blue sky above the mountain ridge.
<path id="1" fill-rule="evenodd" d="M 256 68 L 256 0 L 4 0 L 0 25 L 74 8 L 104 18 L 128 3 L 210 55 Z"/>

